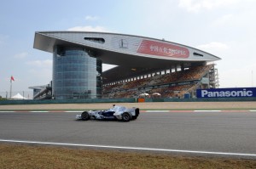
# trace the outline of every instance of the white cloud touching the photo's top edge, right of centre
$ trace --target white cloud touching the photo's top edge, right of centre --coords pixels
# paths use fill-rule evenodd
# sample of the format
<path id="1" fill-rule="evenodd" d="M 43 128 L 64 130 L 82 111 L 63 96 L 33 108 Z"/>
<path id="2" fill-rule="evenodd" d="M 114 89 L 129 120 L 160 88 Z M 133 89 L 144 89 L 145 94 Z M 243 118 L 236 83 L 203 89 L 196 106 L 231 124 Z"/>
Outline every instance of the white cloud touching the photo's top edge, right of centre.
<path id="1" fill-rule="evenodd" d="M 236 3 L 238 0 L 179 0 L 178 6 L 189 12 L 200 12 L 204 9 L 219 8 Z"/>

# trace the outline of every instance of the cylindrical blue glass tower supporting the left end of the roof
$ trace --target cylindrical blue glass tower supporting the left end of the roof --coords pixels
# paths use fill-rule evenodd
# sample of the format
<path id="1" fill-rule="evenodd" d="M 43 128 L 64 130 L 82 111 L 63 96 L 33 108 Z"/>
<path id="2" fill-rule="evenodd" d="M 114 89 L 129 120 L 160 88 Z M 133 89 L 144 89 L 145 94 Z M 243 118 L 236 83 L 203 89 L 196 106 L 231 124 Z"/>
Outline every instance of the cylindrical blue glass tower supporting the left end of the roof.
<path id="1" fill-rule="evenodd" d="M 54 99 L 102 98 L 102 60 L 84 48 L 55 46 L 52 82 Z"/>

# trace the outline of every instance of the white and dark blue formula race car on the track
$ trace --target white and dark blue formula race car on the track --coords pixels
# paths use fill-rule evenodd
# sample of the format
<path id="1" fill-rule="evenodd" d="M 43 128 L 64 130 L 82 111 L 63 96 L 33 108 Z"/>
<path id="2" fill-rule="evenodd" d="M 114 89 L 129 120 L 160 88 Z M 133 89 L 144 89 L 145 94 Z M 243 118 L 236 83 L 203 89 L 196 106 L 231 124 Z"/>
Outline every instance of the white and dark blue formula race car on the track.
<path id="1" fill-rule="evenodd" d="M 88 121 L 90 119 L 131 121 L 136 120 L 139 114 L 140 110 L 138 108 L 133 107 L 128 109 L 124 106 L 113 104 L 113 108 L 109 110 L 84 111 L 81 115 L 76 115 L 76 119 L 82 121 Z"/>

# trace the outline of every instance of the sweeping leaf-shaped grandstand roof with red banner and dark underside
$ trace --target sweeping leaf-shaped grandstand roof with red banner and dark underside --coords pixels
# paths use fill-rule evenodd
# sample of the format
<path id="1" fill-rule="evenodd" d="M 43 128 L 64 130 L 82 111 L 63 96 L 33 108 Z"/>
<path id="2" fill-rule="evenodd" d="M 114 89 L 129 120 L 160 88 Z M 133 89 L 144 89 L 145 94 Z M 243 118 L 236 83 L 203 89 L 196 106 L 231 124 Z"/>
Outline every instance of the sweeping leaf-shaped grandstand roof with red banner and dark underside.
<path id="1" fill-rule="evenodd" d="M 103 73 L 103 82 L 174 65 L 201 65 L 220 59 L 196 48 L 149 37 L 86 31 L 35 33 L 33 48 L 53 53 L 55 45 L 84 48 L 92 56 L 102 59 L 104 64 L 119 65 Z"/>

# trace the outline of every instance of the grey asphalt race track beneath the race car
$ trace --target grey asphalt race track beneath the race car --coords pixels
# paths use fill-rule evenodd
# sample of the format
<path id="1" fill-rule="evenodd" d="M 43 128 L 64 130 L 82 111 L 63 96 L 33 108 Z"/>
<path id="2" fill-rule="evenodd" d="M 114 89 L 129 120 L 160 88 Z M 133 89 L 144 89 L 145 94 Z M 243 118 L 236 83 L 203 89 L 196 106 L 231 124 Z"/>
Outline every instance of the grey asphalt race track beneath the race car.
<path id="1" fill-rule="evenodd" d="M 130 122 L 76 121 L 76 114 L 1 111 L 0 143 L 256 159 L 256 112 L 147 112 Z"/>

